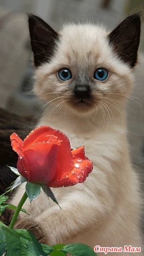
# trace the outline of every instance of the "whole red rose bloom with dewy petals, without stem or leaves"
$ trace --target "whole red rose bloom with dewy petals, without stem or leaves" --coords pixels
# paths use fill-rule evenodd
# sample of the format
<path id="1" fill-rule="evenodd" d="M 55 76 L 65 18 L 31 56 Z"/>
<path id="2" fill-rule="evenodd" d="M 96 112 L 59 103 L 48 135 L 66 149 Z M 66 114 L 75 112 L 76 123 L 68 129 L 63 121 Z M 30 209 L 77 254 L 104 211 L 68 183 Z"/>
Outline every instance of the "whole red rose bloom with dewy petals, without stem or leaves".
<path id="1" fill-rule="evenodd" d="M 10 138 L 18 171 L 30 182 L 67 187 L 84 182 L 92 171 L 84 147 L 71 150 L 67 136 L 49 126 L 37 127 L 23 141 L 16 133 Z"/>

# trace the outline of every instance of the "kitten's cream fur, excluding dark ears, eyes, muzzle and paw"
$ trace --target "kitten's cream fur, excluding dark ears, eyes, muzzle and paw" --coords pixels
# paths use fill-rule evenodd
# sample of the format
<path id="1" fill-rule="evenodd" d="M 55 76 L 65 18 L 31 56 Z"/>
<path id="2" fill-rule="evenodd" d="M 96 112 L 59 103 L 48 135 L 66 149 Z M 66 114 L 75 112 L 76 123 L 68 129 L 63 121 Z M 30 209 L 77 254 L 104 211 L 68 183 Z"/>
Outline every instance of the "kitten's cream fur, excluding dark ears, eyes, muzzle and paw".
<path id="1" fill-rule="evenodd" d="M 66 133 L 71 148 L 84 145 L 94 167 L 84 183 L 52 189 L 62 210 L 43 192 L 31 206 L 27 200 L 24 207 L 43 228 L 49 244 L 142 247 L 139 181 L 131 166 L 126 139 L 125 102 L 132 89 L 133 69 L 110 49 L 107 31 L 101 27 L 69 25 L 60 35 L 52 61 L 36 70 L 35 92 L 46 102 L 51 100 L 38 125 Z M 97 90 L 92 93 L 96 103 L 90 109 L 76 109 L 69 103 L 70 81 L 60 81 L 57 76 L 63 67 L 71 70 L 74 79 L 86 70 L 90 77 L 98 67 L 109 70 L 105 82 L 95 81 Z M 25 184 L 19 188 L 13 204 L 18 204 L 24 190 Z"/>

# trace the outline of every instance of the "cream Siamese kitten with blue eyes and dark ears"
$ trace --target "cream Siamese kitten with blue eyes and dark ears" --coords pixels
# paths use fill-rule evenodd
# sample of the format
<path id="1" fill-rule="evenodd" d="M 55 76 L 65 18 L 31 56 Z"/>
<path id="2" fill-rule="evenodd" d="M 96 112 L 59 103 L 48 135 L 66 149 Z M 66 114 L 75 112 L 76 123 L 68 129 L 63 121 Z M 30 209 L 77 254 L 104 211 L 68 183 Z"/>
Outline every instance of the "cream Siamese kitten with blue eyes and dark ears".
<path id="1" fill-rule="evenodd" d="M 30 216 L 21 214 L 15 227 L 30 229 L 47 244 L 142 247 L 139 181 L 131 165 L 125 113 L 140 41 L 139 14 L 111 33 L 91 24 L 67 25 L 57 33 L 30 15 L 29 31 L 35 92 L 46 102 L 38 126 L 66 133 L 72 148 L 84 145 L 94 167 L 84 183 L 52 189 L 62 210 L 42 191 L 31 206 L 26 201 Z M 24 190 L 25 184 L 13 204 Z"/>

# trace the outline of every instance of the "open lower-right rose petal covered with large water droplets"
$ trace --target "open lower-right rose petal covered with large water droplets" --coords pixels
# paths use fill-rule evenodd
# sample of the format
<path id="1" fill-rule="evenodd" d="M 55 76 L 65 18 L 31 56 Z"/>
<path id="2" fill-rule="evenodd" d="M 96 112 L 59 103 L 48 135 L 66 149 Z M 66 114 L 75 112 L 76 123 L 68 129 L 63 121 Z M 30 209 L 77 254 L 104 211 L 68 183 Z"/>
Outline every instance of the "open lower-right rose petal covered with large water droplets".
<path id="1" fill-rule="evenodd" d="M 81 159 L 81 162 L 77 162 L 77 160 L 80 161 L 79 158 L 75 159 L 74 167 L 68 175 L 61 179 L 53 180 L 47 186 L 53 188 L 68 187 L 84 182 L 93 169 L 93 163 L 89 159 Z"/>

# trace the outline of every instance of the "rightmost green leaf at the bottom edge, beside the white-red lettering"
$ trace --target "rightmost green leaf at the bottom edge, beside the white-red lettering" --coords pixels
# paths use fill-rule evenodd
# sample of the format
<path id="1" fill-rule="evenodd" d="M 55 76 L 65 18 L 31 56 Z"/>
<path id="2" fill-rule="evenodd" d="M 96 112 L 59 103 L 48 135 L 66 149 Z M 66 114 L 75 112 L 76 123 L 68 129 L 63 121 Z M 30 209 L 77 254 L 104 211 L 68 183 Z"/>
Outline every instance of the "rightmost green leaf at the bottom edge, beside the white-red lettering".
<path id="1" fill-rule="evenodd" d="M 95 256 L 94 250 L 85 244 L 68 244 L 61 250 L 73 256 Z"/>

